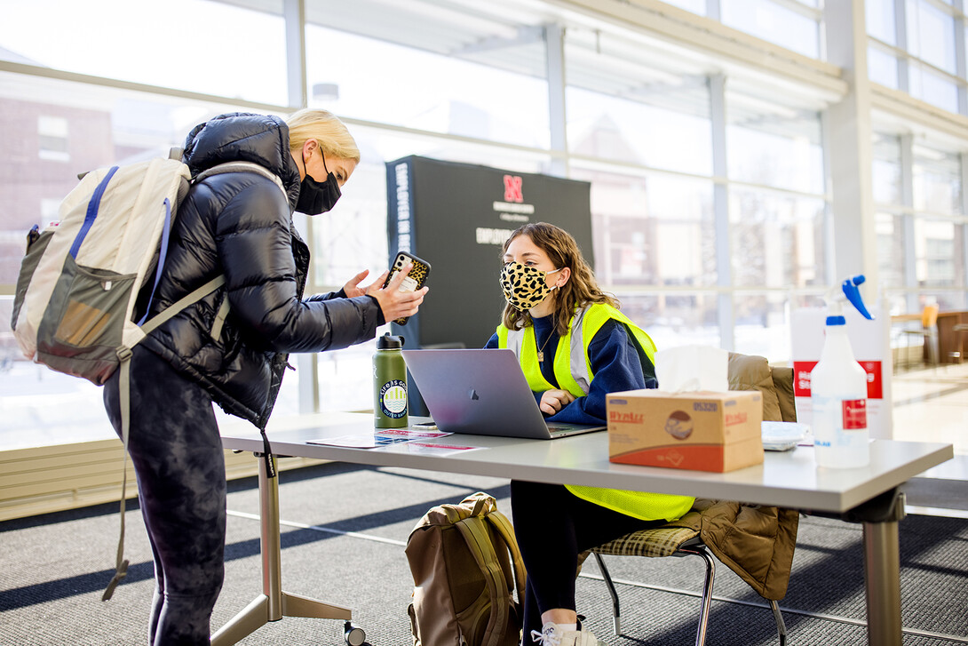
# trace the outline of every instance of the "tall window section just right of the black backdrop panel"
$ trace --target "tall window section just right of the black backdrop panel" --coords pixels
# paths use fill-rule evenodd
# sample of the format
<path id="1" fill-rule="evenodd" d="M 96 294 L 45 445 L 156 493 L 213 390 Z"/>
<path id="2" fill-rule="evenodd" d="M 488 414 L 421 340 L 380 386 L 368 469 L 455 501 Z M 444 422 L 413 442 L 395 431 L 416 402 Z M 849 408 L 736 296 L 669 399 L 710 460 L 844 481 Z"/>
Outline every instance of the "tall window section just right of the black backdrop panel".
<path id="1" fill-rule="evenodd" d="M 717 345 L 715 294 L 695 292 L 717 280 L 709 83 L 660 51 L 583 36 L 566 49 L 565 106 L 570 174 L 591 184 L 597 278 L 660 347 Z"/>

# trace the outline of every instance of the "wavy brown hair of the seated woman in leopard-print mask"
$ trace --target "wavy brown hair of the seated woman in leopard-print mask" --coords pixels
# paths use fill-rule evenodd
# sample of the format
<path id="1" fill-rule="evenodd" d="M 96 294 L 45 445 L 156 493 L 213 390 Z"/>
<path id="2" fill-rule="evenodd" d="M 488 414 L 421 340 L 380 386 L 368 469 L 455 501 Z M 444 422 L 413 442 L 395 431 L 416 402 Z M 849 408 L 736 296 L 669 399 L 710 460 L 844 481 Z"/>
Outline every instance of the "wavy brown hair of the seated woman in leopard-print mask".
<path id="1" fill-rule="evenodd" d="M 547 222 L 535 222 L 524 225 L 511 232 L 501 250 L 501 260 L 507 253 L 511 241 L 519 235 L 527 235 L 536 247 L 548 255 L 555 268 L 568 267 L 571 277 L 564 287 L 552 292 L 549 298 L 555 299 L 555 330 L 559 336 L 568 333 L 568 325 L 575 313 L 575 308 L 591 303 L 608 303 L 619 307 L 619 299 L 614 295 L 602 292 L 595 281 L 595 274 L 589 263 L 582 256 L 582 250 L 571 233 Z M 529 312 L 519 312 L 505 303 L 502 323 L 508 329 L 521 329 L 531 324 Z"/>

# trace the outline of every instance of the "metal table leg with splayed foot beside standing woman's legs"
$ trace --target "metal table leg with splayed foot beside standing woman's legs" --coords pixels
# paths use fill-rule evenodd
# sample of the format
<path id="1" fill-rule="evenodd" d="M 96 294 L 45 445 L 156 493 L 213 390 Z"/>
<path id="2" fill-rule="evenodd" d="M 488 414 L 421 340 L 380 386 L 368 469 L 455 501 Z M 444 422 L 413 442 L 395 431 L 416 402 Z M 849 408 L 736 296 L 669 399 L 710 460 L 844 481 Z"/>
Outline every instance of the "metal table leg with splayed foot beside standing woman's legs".
<path id="1" fill-rule="evenodd" d="M 268 622 L 283 617 L 351 619 L 351 611 L 339 605 L 283 592 L 282 545 L 279 536 L 279 477 L 269 476 L 265 456 L 258 460 L 258 504 L 262 556 L 262 594 L 212 635 L 212 646 L 229 646 L 241 641 Z M 274 456 L 268 459 L 275 460 Z"/>

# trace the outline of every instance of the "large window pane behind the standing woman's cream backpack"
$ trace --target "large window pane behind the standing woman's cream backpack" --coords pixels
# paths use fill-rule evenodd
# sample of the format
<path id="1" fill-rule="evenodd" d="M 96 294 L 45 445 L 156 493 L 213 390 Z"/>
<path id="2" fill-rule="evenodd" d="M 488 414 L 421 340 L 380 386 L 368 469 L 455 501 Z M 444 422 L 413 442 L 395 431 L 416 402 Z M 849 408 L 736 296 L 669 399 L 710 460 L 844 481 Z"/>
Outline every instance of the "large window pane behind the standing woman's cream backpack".
<path id="1" fill-rule="evenodd" d="M 0 156 L 0 448 L 114 437 L 101 388 L 23 360 L 16 346 L 13 286 L 26 233 L 58 218 L 78 173 L 166 156 L 197 123 L 240 108 L 2 72 L 0 88 L 0 138 L 8 142 Z M 298 410 L 298 379 L 284 382 L 284 415 Z"/>

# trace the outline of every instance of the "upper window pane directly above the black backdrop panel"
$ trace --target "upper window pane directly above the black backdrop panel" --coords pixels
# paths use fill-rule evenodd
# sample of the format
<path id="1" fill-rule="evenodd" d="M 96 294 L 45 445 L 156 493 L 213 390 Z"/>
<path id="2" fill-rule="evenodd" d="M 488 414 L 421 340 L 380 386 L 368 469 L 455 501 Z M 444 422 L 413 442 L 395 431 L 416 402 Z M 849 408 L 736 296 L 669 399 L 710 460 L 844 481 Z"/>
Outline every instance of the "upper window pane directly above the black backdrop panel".
<path id="1" fill-rule="evenodd" d="M 435 133 L 549 145 L 543 77 L 313 24 L 306 29 L 306 41 L 313 106 Z M 544 68 L 540 39 L 495 47 L 517 59 L 522 70 Z"/>

